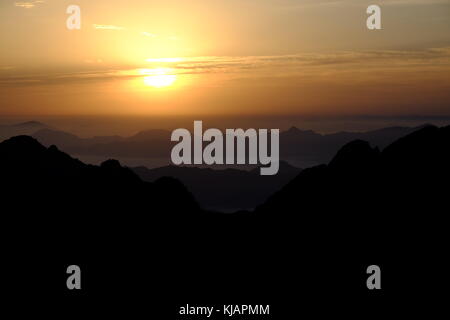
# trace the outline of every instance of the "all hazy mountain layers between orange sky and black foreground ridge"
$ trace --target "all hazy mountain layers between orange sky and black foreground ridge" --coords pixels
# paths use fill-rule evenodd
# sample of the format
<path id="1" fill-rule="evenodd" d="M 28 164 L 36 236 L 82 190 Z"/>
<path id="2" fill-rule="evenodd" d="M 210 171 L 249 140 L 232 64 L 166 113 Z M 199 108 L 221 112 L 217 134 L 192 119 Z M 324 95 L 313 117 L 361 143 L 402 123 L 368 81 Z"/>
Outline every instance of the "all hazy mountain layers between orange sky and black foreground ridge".
<path id="1" fill-rule="evenodd" d="M 423 127 L 423 126 L 422 126 Z M 180 180 L 206 209 L 219 211 L 252 210 L 265 199 L 292 180 L 300 171 L 291 164 L 309 167 L 328 163 L 333 155 L 346 143 L 360 139 L 371 145 L 384 148 L 389 143 L 414 132 L 419 128 L 390 127 L 368 132 L 339 132 L 318 134 L 310 130 L 292 127 L 280 135 L 280 171 L 273 177 L 261 177 L 257 169 L 238 170 L 164 166 L 147 169 L 144 166 L 132 170 L 143 180 L 155 182 L 161 177 Z M 115 158 L 125 161 L 136 158 L 166 158 L 172 144 L 170 132 L 147 130 L 131 137 L 100 136 L 80 138 L 74 134 L 52 129 L 45 124 L 30 121 L 12 126 L 3 126 L 4 134 L 26 132 L 32 134 L 44 146 L 56 145 L 71 155 L 97 156 L 101 159 Z"/>

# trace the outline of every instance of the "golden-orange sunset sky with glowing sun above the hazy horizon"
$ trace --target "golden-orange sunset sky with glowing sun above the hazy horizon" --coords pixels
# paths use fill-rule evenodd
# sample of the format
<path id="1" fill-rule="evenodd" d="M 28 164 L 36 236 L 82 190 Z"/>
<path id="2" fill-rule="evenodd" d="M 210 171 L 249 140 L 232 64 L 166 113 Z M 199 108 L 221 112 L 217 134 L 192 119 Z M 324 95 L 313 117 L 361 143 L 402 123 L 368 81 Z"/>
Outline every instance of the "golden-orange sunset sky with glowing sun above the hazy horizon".
<path id="1" fill-rule="evenodd" d="M 450 115 L 450 0 L 2 0 L 0 39 L 0 116 Z"/>

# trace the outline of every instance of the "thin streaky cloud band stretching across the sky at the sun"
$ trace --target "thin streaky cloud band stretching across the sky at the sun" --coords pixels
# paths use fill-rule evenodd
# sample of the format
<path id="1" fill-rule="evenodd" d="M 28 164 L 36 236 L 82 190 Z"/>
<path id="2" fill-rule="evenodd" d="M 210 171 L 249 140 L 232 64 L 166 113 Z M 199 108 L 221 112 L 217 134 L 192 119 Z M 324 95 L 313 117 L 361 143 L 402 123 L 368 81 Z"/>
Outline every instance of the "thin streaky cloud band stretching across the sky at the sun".
<path id="1" fill-rule="evenodd" d="M 102 61 L 103 62 L 103 61 Z M 333 79 L 343 73 L 384 75 L 389 72 L 448 72 L 450 47 L 417 51 L 373 50 L 322 54 L 243 57 L 187 57 L 148 59 L 135 68 L 104 64 L 103 70 L 36 76 L 0 76 L 0 86 L 61 84 L 142 77 L 142 70 L 166 68 L 173 75 L 228 74 L 239 78 L 313 77 Z"/>

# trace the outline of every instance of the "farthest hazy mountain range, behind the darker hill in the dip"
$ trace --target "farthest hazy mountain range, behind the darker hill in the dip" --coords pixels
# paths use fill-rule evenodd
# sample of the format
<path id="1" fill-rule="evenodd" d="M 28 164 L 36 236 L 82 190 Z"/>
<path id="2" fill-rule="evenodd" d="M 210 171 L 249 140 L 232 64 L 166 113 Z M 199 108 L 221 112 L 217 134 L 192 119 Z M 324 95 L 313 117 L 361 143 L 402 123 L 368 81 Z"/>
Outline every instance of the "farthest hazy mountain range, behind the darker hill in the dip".
<path id="1" fill-rule="evenodd" d="M 173 146 L 170 142 L 170 131 L 147 130 L 131 137 L 80 138 L 36 122 L 22 125 L 24 126 L 0 128 L 0 132 L 3 132 L 1 136 L 7 138 L 16 134 L 32 135 L 45 146 L 57 145 L 69 154 L 78 156 L 116 158 L 125 163 L 129 158 L 164 158 L 167 159 L 167 164 L 170 164 L 170 151 Z M 384 148 L 421 127 L 390 127 L 368 132 L 333 134 L 319 134 L 292 127 L 280 134 L 280 158 L 296 167 L 310 167 L 329 162 L 339 148 L 352 140 L 361 139 Z"/>

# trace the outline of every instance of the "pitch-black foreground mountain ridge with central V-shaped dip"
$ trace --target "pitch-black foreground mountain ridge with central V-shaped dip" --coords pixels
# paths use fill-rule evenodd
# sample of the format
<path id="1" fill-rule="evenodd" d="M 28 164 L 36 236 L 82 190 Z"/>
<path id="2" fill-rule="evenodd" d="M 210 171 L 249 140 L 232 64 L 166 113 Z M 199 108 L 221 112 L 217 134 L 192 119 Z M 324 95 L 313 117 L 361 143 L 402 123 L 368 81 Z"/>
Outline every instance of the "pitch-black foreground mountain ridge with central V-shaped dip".
<path id="1" fill-rule="evenodd" d="M 3 274 L 12 296 L 132 301 L 128 312 L 144 303 L 166 315 L 165 304 L 192 301 L 271 303 L 276 319 L 353 310 L 349 301 L 423 303 L 449 270 L 449 163 L 450 127 L 383 151 L 356 140 L 254 212 L 226 215 L 202 210 L 175 179 L 143 182 L 117 161 L 85 165 L 14 137 L 0 144 Z M 66 290 L 70 264 L 86 275 L 80 293 Z M 383 272 L 380 292 L 366 288 L 371 264 Z"/>

